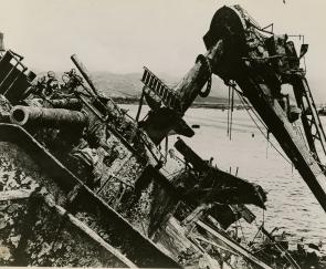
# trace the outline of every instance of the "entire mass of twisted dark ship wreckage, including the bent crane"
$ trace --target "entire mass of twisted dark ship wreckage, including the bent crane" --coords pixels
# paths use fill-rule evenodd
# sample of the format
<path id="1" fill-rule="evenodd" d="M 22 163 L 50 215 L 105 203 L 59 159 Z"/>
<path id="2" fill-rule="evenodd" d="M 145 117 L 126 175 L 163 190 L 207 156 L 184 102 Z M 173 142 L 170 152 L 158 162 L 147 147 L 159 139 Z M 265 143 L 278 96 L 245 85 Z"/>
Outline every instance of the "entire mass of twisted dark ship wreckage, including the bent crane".
<path id="1" fill-rule="evenodd" d="M 59 82 L 49 73 L 32 84 L 35 74 L 22 56 L 2 54 L 2 266 L 308 265 L 304 254 L 291 254 L 263 226 L 269 240 L 250 246 L 228 232 L 239 218 L 254 220 L 246 204 L 265 207 L 261 186 L 212 166 L 180 138 L 175 147 L 182 162 L 158 147 L 171 132 L 194 134 L 182 116 L 198 95 L 208 96 L 217 74 L 251 103 L 326 209 L 325 134 L 299 68 L 307 48 L 297 55 L 287 35 L 261 29 L 239 6 L 219 9 L 203 41 L 207 53 L 175 89 L 145 69 L 140 101 L 150 111 L 143 121 L 98 94 L 75 55 L 81 75 L 72 70 Z M 293 86 L 299 110 L 282 94 L 283 84 Z M 308 146 L 292 125 L 297 120 Z"/>

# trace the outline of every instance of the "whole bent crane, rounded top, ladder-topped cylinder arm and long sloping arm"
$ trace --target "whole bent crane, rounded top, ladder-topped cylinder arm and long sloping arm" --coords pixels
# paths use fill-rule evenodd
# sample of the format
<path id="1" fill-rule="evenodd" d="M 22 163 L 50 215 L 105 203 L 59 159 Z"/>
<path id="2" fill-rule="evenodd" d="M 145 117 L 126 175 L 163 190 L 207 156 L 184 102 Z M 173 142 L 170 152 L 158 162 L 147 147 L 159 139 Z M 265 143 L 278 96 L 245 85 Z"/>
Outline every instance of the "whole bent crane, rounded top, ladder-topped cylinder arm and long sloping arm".
<path id="1" fill-rule="evenodd" d="M 162 101 L 162 106 L 151 107 L 145 120 L 147 134 L 156 144 L 178 126 L 193 135 L 189 128 L 186 132 L 181 117 L 204 84 L 209 84 L 211 73 L 225 84 L 235 82 L 326 211 L 325 166 L 320 162 L 320 154 L 326 157 L 326 138 L 305 72 L 299 68 L 307 45 L 303 44 L 298 56 L 286 34 L 265 31 L 240 6 L 219 9 L 203 41 L 208 52 L 198 58 L 175 89 L 157 83 L 159 80 L 153 73 L 147 76 L 145 70 L 143 82 Z M 282 93 L 284 85 L 293 87 L 299 107 L 296 112 L 288 95 Z M 293 126 L 297 118 L 303 123 L 308 147 Z"/>

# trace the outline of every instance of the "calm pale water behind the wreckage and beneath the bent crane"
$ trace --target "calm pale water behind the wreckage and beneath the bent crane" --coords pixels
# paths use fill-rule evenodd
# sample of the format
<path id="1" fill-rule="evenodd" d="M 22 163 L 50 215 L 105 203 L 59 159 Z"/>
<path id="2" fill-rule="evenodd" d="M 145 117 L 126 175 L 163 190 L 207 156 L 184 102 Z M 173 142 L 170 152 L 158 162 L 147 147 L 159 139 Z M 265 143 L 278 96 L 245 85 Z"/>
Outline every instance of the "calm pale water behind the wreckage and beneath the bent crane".
<path id="1" fill-rule="evenodd" d="M 136 105 L 123 107 L 128 108 L 132 116 L 136 115 Z M 271 135 L 267 142 L 245 111 L 233 112 L 231 139 L 227 135 L 228 111 L 191 108 L 185 120 L 189 125 L 200 125 L 192 138 L 183 139 L 202 158 L 213 157 L 219 168 L 231 168 L 232 174 L 238 168 L 239 177 L 257 183 L 267 192 L 264 213 L 249 206 L 256 215 L 257 225 L 264 220 L 267 230 L 278 227 L 278 232 L 285 231 L 292 245 L 296 245 L 301 237 L 307 242 L 322 239 L 326 244 L 326 213 L 297 170 L 271 146 L 273 143 L 282 152 L 274 137 Z M 326 117 L 322 117 L 322 122 L 326 126 Z M 176 137 L 170 136 L 170 147 L 175 141 Z M 255 227 L 244 223 L 242 226 L 246 240 L 251 240 Z"/>

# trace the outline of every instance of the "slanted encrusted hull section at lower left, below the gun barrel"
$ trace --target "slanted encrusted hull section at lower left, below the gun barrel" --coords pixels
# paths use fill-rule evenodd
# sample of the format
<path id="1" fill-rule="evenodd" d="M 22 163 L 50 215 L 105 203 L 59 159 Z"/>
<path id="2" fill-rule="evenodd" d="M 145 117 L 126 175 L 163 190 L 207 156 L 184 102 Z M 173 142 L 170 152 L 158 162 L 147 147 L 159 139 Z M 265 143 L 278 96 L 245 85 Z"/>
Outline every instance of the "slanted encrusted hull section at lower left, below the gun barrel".
<path id="1" fill-rule="evenodd" d="M 1 265 L 178 267 L 23 128 L 0 130 Z M 77 184 L 84 210 L 69 201 Z"/>

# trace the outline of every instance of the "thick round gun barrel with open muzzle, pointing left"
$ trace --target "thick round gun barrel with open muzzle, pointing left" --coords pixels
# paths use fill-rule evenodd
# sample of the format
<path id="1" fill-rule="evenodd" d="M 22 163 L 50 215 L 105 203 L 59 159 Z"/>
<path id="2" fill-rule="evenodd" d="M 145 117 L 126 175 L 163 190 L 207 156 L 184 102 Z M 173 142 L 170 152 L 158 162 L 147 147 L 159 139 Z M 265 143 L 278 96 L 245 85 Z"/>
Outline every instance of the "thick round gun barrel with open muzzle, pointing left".
<path id="1" fill-rule="evenodd" d="M 44 108 L 38 106 L 13 106 L 10 121 L 21 126 L 85 127 L 88 117 L 85 113 L 64 108 Z"/>

